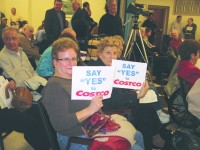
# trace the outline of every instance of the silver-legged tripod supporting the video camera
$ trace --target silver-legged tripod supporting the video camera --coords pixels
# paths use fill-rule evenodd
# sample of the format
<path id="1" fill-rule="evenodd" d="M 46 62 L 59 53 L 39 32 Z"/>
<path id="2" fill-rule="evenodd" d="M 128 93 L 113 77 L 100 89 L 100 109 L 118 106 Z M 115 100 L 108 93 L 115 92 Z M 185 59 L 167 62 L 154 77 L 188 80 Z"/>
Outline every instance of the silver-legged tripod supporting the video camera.
<path id="1" fill-rule="evenodd" d="M 147 58 L 147 54 L 146 54 L 146 50 L 145 50 L 145 47 L 144 47 L 144 42 L 143 42 L 143 39 L 142 39 L 141 31 L 140 31 L 140 29 L 138 27 L 139 15 L 134 15 L 130 19 L 133 19 L 133 25 L 132 25 L 131 33 L 129 35 L 128 42 L 127 42 L 127 45 L 126 45 L 126 49 L 124 51 L 124 55 L 123 56 L 125 58 L 127 58 L 128 60 L 130 60 L 130 57 L 134 52 L 134 46 L 136 45 L 137 49 L 139 50 L 139 52 L 141 54 L 142 59 L 144 60 L 145 63 L 147 63 L 147 67 L 148 67 L 148 70 L 149 70 L 149 78 L 152 81 L 151 69 L 149 68 L 149 65 L 148 65 L 149 64 L 149 60 Z M 129 21 L 127 21 L 127 22 L 129 22 Z M 141 42 L 143 51 L 140 49 L 140 46 L 138 45 L 138 43 L 136 41 L 137 35 L 139 36 L 139 40 Z"/>

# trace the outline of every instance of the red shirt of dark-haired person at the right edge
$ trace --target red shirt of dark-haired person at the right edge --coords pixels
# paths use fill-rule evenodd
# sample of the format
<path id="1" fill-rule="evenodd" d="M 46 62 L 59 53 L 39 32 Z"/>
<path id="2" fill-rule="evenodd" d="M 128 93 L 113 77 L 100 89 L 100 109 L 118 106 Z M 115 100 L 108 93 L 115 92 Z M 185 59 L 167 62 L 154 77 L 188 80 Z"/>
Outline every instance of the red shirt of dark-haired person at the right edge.
<path id="1" fill-rule="evenodd" d="M 178 76 L 186 80 L 191 86 L 200 78 L 200 69 L 189 60 L 181 60 L 177 70 Z"/>

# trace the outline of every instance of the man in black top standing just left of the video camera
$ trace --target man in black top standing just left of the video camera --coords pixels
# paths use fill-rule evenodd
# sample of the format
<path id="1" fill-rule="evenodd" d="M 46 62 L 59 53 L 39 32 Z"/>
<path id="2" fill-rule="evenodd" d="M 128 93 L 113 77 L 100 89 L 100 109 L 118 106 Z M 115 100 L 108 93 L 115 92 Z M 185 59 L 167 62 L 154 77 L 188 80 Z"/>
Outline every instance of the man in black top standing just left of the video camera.
<path id="1" fill-rule="evenodd" d="M 123 37 L 122 20 L 117 15 L 116 0 L 107 0 L 105 5 L 106 14 L 99 21 L 98 34 L 108 36 L 120 35 Z"/>

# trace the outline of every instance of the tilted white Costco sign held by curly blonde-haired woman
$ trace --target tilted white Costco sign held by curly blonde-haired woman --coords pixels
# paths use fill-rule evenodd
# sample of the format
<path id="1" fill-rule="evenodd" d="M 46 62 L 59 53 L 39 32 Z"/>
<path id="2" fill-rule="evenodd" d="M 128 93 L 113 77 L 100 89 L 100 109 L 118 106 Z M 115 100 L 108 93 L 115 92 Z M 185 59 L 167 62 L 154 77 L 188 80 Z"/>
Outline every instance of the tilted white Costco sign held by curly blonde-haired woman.
<path id="1" fill-rule="evenodd" d="M 141 89 L 146 77 L 146 63 L 112 60 L 112 66 L 115 67 L 113 87 Z"/>

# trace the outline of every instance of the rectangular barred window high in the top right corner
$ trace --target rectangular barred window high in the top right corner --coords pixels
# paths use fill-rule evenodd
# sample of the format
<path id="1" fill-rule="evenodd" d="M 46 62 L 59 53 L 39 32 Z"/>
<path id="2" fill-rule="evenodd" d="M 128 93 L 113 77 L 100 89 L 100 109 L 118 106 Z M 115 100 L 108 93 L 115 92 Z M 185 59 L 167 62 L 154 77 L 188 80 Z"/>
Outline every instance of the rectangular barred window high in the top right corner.
<path id="1" fill-rule="evenodd" d="M 174 14 L 200 15 L 200 0 L 175 0 Z"/>

